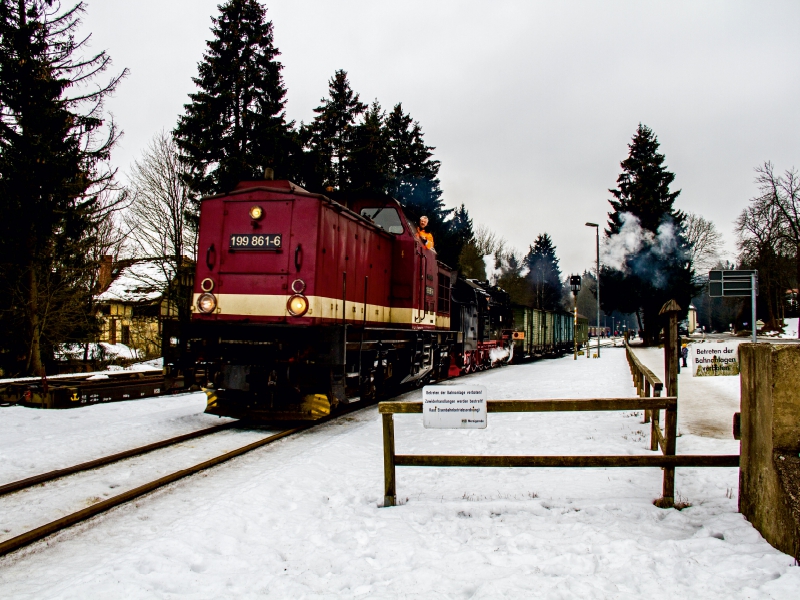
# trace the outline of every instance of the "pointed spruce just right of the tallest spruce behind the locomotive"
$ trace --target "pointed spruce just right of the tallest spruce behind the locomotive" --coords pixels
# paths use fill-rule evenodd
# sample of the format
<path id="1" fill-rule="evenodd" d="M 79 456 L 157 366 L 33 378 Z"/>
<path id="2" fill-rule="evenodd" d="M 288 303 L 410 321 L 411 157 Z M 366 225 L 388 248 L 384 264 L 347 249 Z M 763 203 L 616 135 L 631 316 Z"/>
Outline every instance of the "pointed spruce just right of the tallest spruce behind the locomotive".
<path id="1" fill-rule="evenodd" d="M 322 104 L 314 109 L 314 120 L 306 126 L 315 178 L 310 187 L 350 191 L 348 159 L 354 147 L 357 120 L 367 110 L 367 105 L 350 87 L 347 71 L 341 69 L 331 77 L 328 97 L 320 102 Z M 373 120 L 376 120 L 376 115 L 373 115 Z"/>

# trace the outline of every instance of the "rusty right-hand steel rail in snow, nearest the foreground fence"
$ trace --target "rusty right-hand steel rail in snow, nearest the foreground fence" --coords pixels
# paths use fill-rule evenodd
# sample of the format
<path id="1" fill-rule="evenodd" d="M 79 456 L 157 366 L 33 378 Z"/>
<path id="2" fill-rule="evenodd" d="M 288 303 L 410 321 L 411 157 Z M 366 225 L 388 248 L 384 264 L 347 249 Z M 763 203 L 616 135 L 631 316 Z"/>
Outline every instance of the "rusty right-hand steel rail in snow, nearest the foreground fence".
<path id="1" fill-rule="evenodd" d="M 150 483 L 140 485 L 139 487 L 134 488 L 132 490 L 128 490 L 127 492 L 122 492 L 121 494 L 118 494 L 113 498 L 109 498 L 108 500 L 103 500 L 102 502 L 93 504 L 92 506 L 84 508 L 83 510 L 71 513 L 55 521 L 51 521 L 50 523 L 42 525 L 41 527 L 37 527 L 35 529 L 26 531 L 25 533 L 22 533 L 16 537 L 10 538 L 4 542 L 0 542 L 0 556 L 4 556 L 9 552 L 13 552 L 15 550 L 19 550 L 20 548 L 32 544 L 33 542 L 37 542 L 49 535 L 57 533 L 62 529 L 66 529 L 67 527 L 80 523 L 81 521 L 90 519 L 96 515 L 99 515 L 100 513 L 103 513 L 116 506 L 119 506 L 120 504 L 130 502 L 131 500 L 134 500 L 140 496 L 149 494 L 150 492 L 157 490 L 160 487 L 164 487 L 165 485 L 168 485 L 175 481 L 178 481 L 179 479 L 183 479 L 184 477 L 194 475 L 195 473 L 198 473 L 210 467 L 214 467 L 232 458 L 236 458 L 237 456 L 241 456 L 242 454 L 260 448 L 261 446 L 265 446 L 266 444 L 275 442 L 281 438 L 309 429 L 310 427 L 312 427 L 312 425 L 305 425 L 302 427 L 296 427 L 294 429 L 287 429 L 286 431 L 282 431 L 281 433 L 276 433 L 262 440 L 258 440 L 257 442 L 253 442 L 252 444 L 242 446 L 241 448 L 237 448 L 236 450 L 232 450 L 231 452 L 226 452 L 225 454 L 221 454 L 215 458 L 196 464 L 192 467 L 189 467 L 188 469 L 175 471 L 174 473 L 165 475 L 164 477 L 151 481 Z"/>

